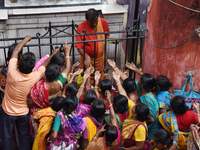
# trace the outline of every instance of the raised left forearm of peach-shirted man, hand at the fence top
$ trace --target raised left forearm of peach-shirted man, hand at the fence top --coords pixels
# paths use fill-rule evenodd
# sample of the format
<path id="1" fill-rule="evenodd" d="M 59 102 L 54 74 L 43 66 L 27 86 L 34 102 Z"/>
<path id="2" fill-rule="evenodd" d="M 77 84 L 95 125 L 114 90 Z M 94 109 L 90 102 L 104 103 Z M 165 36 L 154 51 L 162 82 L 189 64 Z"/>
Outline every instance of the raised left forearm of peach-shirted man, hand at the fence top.
<path id="1" fill-rule="evenodd" d="M 30 41 L 31 39 L 32 39 L 32 37 L 30 35 L 27 35 L 19 44 L 17 44 L 17 46 L 13 50 L 11 58 L 17 58 L 18 59 L 19 52 L 22 50 L 22 48 L 24 47 L 24 45 L 28 41 Z"/>

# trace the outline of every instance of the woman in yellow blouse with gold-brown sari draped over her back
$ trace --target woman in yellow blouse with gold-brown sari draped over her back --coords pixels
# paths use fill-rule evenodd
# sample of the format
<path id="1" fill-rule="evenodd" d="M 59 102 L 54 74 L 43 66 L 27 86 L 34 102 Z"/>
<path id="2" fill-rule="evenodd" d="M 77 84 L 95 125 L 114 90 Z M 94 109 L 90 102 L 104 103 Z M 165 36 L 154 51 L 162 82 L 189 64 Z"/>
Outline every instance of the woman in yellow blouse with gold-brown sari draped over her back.
<path id="1" fill-rule="evenodd" d="M 132 108 L 132 117 L 124 121 L 121 134 L 121 146 L 128 149 L 148 150 L 146 121 L 150 119 L 149 108 L 139 103 Z"/>

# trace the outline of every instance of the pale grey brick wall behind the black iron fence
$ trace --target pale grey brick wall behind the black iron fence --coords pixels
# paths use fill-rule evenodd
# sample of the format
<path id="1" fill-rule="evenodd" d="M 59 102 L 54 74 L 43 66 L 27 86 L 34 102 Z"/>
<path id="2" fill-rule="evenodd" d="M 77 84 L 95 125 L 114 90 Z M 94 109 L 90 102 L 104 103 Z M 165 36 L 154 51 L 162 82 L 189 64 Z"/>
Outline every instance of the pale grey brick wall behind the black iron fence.
<path id="1" fill-rule="evenodd" d="M 104 18 L 107 20 L 110 31 L 121 31 L 123 30 L 123 17 L 124 14 L 106 14 Z M 0 38 L 18 38 L 25 37 L 26 35 L 36 36 L 37 32 L 40 32 L 41 35 L 46 33 L 46 30 L 43 28 L 48 26 L 49 21 L 51 21 L 52 25 L 66 25 L 71 24 L 72 19 L 75 24 L 80 24 L 85 20 L 85 13 L 55 13 L 55 14 L 42 14 L 42 15 L 9 15 L 6 21 L 0 22 Z M 59 28 L 62 29 L 62 28 Z M 71 29 L 66 30 L 68 32 Z M 57 31 L 52 30 L 52 34 L 55 34 Z M 59 35 L 64 35 L 60 33 Z M 122 37 L 121 34 L 111 34 L 110 37 Z M 71 38 L 56 38 L 53 39 L 53 42 L 65 43 L 66 41 L 71 41 Z M 14 41 L 10 42 L 1 42 L 0 46 L 8 46 L 14 43 Z M 49 43 L 48 39 L 41 40 L 41 43 Z M 37 40 L 32 40 L 29 44 L 38 44 Z M 117 49 L 117 57 L 121 56 L 121 47 L 122 44 L 118 45 Z M 107 55 L 108 57 L 114 57 L 114 44 L 107 45 Z M 24 48 L 24 51 L 27 51 Z M 34 52 L 36 57 L 39 58 L 39 50 L 38 47 L 31 47 L 30 51 Z M 42 56 L 49 53 L 49 46 L 42 47 Z M 79 53 L 75 49 L 76 61 L 79 59 Z M 0 52 L 0 65 L 4 63 L 4 55 L 2 55 L 2 50 Z"/>

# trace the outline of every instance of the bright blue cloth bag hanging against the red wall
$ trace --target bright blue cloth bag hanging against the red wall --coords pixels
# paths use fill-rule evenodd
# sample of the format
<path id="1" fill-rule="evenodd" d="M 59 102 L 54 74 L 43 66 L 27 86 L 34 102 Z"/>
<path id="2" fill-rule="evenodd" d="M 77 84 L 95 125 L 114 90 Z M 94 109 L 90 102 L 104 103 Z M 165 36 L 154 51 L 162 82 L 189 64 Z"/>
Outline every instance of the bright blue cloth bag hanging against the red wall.
<path id="1" fill-rule="evenodd" d="M 190 84 L 191 84 L 191 90 L 189 92 L 185 92 L 185 87 L 189 81 L 190 78 Z M 182 89 L 175 89 L 174 90 L 174 96 L 182 96 L 185 99 L 186 105 L 191 108 L 192 103 L 200 103 L 200 93 L 195 92 L 193 90 L 193 81 L 192 81 L 192 74 L 189 74 L 187 80 L 185 81 L 185 84 L 183 85 Z"/>

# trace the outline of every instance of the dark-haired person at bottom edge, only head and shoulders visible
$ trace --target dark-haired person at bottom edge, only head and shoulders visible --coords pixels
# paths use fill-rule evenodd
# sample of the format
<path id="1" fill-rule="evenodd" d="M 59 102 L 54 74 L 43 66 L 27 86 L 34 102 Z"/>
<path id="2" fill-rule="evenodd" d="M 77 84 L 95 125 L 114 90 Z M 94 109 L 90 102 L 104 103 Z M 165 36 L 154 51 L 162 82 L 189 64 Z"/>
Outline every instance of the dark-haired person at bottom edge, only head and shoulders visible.
<path id="1" fill-rule="evenodd" d="M 153 141 L 151 141 L 149 150 L 176 150 L 172 135 L 164 129 L 159 129 L 153 134 Z"/>

